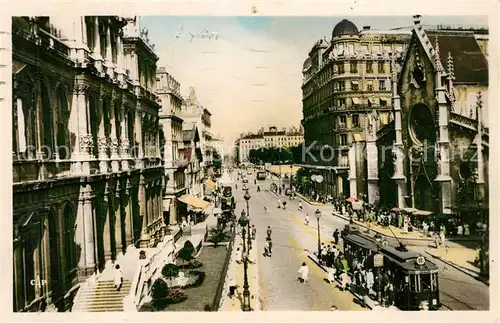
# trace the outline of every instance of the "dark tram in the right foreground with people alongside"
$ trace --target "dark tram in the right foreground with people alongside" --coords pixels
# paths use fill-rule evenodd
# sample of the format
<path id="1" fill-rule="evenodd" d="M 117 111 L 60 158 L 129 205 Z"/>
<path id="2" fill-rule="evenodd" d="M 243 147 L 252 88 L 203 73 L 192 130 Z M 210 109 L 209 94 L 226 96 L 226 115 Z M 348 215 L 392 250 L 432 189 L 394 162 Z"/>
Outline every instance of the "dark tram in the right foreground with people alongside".
<path id="1" fill-rule="evenodd" d="M 429 310 L 441 307 L 436 264 L 402 243 L 393 247 L 361 232 L 348 233 L 343 238 L 349 267 L 354 267 L 354 259 L 365 259 L 365 268 L 373 270 L 379 286 L 392 284 L 396 307 L 404 311 L 419 310 L 423 303 Z"/>

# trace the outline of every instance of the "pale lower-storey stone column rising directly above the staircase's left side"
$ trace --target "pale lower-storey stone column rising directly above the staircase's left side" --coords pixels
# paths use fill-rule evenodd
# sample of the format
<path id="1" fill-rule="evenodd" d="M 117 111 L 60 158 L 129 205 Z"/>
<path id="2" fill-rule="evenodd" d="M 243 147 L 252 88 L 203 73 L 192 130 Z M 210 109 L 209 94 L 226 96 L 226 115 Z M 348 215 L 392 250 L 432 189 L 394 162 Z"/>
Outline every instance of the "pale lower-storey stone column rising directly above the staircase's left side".
<path id="1" fill-rule="evenodd" d="M 78 210 L 76 214 L 75 242 L 81 246 L 78 260 L 79 281 L 93 274 L 96 270 L 96 227 L 92 212 L 92 188 L 86 184 L 80 190 Z"/>

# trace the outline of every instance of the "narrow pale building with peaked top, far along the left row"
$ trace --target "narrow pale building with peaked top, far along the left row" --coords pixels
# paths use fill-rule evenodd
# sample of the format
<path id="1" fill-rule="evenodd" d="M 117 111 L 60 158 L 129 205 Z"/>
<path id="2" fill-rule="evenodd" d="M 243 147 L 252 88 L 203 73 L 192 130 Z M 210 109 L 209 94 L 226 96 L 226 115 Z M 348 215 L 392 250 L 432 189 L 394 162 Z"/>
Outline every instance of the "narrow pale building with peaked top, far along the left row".
<path id="1" fill-rule="evenodd" d="M 203 152 L 202 177 L 211 175 L 214 151 L 212 145 L 212 138 L 214 136 L 211 131 L 212 113 L 200 104 L 194 87 L 189 88 L 189 95 L 185 99 L 182 107 L 182 118 L 186 123 L 186 130 L 191 130 L 192 126 L 196 126 L 198 129 L 200 135 L 200 149 Z"/>

